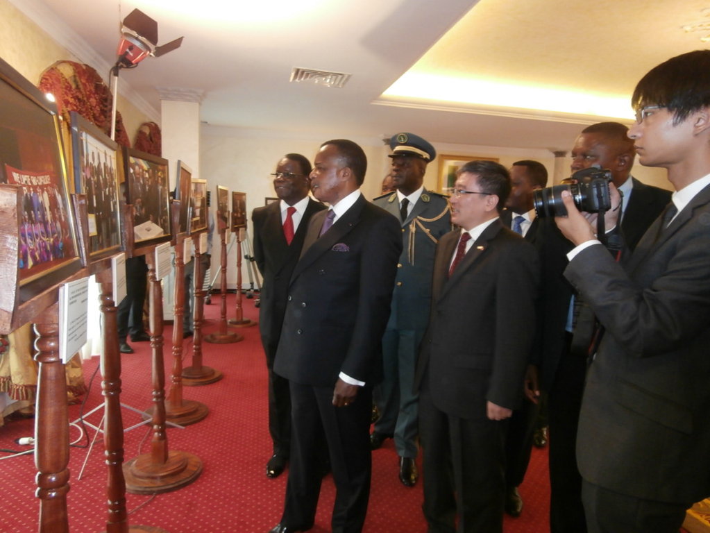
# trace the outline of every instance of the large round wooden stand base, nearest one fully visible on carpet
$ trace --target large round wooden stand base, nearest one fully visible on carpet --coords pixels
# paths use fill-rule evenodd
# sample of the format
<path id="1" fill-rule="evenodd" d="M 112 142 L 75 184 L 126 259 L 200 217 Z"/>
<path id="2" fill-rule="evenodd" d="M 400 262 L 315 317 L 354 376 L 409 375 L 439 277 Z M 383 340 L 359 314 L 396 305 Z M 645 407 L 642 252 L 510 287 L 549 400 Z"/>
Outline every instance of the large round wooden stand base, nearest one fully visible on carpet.
<path id="1" fill-rule="evenodd" d="M 124 464 L 126 491 L 131 494 L 160 494 L 190 485 L 200 477 L 202 461 L 185 451 L 168 452 L 165 464 L 153 463 L 143 454 Z"/>

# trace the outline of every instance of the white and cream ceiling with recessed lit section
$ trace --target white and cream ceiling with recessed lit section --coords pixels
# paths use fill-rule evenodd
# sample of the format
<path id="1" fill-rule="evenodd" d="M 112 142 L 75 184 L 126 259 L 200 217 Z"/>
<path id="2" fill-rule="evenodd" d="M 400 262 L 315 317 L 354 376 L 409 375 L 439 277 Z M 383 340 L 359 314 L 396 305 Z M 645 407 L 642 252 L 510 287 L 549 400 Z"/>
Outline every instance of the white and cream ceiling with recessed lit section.
<path id="1" fill-rule="evenodd" d="M 80 35 L 70 50 L 106 75 L 133 8 L 158 21 L 158 44 L 184 35 L 121 71 L 156 113 L 156 87 L 173 87 L 202 91 L 214 126 L 555 150 L 602 119 L 381 95 L 409 71 L 628 99 L 650 67 L 706 48 L 710 34 L 710 0 L 11 1 L 65 40 Z M 708 28 L 683 30 L 698 23 Z M 84 41 L 99 57 L 82 57 Z M 351 78 L 343 89 L 295 84 L 293 67 Z"/>

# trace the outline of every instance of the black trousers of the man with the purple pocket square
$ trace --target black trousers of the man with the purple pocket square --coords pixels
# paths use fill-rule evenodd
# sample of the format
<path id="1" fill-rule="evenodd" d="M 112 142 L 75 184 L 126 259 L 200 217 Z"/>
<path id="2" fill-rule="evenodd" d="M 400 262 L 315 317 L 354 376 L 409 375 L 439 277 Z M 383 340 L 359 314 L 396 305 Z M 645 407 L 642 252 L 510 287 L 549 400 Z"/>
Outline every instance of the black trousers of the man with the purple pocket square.
<path id="1" fill-rule="evenodd" d="M 356 400 L 334 407 L 333 387 L 290 382 L 291 453 L 286 498 L 280 523 L 310 527 L 320 494 L 322 432 L 335 481 L 333 533 L 360 533 L 367 514 L 372 475 L 370 416 L 372 389 L 359 388 Z M 322 429 L 321 429 L 322 427 Z"/>

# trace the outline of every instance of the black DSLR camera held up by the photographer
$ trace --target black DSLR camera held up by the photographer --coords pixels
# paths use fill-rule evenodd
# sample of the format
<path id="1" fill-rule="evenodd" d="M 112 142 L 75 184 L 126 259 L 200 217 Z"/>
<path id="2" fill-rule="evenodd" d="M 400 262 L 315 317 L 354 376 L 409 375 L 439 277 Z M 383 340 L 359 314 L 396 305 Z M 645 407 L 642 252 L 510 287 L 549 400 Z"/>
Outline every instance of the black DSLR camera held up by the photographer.
<path id="1" fill-rule="evenodd" d="M 567 184 L 532 192 L 532 203 L 535 205 L 537 216 L 567 216 L 567 209 L 562 203 L 562 191 L 572 194 L 574 205 L 579 211 L 599 213 L 611 209 L 611 170 L 599 167 L 583 168 L 574 172 L 568 180 Z"/>

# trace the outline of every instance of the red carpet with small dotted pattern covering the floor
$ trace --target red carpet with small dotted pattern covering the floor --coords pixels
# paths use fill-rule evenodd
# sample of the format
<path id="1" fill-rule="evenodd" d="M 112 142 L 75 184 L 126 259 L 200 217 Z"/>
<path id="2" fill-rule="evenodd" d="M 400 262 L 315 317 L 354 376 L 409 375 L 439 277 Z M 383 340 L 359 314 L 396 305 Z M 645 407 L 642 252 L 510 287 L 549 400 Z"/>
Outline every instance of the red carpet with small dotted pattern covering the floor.
<path id="1" fill-rule="evenodd" d="M 219 329 L 219 296 L 204 307 L 207 317 L 204 331 Z M 257 319 L 258 309 L 253 300 L 243 300 L 244 315 Z M 228 317 L 234 317 L 234 295 L 228 299 Z M 258 326 L 241 328 L 245 340 L 236 344 L 203 344 L 203 363 L 221 370 L 224 379 L 212 385 L 185 387 L 185 400 L 197 400 L 209 407 L 209 415 L 202 422 L 185 429 L 168 430 L 170 450 L 187 451 L 202 459 L 204 470 L 195 483 L 171 493 L 155 496 L 126 495 L 131 525 L 160 527 L 170 533 L 266 533 L 275 525 L 283 508 L 286 474 L 275 480 L 266 478 L 264 468 L 271 455 L 266 417 L 266 366 L 259 341 Z M 172 329 L 165 327 L 165 339 Z M 165 368 L 170 375 L 171 347 L 166 343 Z M 151 361 L 148 343 L 132 343 L 136 353 L 124 355 L 124 404 L 143 410 L 151 405 Z M 185 346 L 188 346 L 187 341 Z M 192 350 L 187 350 L 184 365 L 190 366 Z M 84 363 L 87 385 L 97 368 L 98 358 Z M 169 382 L 169 378 L 167 380 Z M 168 385 L 166 384 L 166 393 Z M 89 392 L 86 411 L 101 404 L 100 375 L 94 379 Z M 70 406 L 70 420 L 77 419 L 80 406 Z M 137 414 L 123 411 L 124 427 L 140 422 Z M 88 417 L 98 425 L 101 412 Z M 125 434 L 125 458 L 128 461 L 150 446 L 148 426 Z M 0 427 L 0 449 L 18 449 L 15 439 L 33 434 L 33 420 L 15 419 Z M 72 429 L 71 439 L 80 435 Z M 89 429 L 89 436 L 94 431 Z M 85 444 L 86 439 L 79 444 Z M 7 456 L 0 453 L 0 457 Z M 106 468 L 103 443 L 99 438 L 89 456 L 82 479 L 77 476 L 82 468 L 86 450 L 72 447 L 70 452 L 70 485 L 67 495 L 70 529 L 89 533 L 105 531 Z M 0 461 L 0 483 L 3 488 L 0 502 L 0 531 L 30 533 L 38 527 L 38 500 L 35 491 L 35 467 L 31 455 Z M 424 533 L 421 483 L 405 488 L 398 477 L 398 461 L 391 440 L 373 452 L 373 483 L 366 533 Z M 520 487 L 525 509 L 520 518 L 506 517 L 506 533 L 542 533 L 548 531 L 547 508 L 547 451 L 534 450 L 525 483 Z M 149 501 L 151 500 L 151 501 Z M 324 479 L 314 533 L 329 531 L 334 500 L 332 477 Z M 147 503 L 146 503 L 147 502 Z"/>

